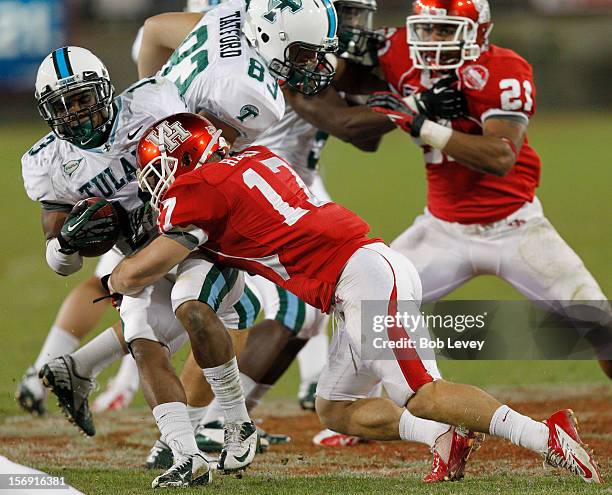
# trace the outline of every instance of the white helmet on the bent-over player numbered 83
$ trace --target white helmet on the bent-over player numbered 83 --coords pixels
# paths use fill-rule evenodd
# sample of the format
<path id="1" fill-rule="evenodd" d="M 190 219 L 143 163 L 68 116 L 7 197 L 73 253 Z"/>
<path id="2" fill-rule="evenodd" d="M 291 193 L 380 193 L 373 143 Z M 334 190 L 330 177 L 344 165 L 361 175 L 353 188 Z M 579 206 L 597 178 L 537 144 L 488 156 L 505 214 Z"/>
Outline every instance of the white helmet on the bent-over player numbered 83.
<path id="1" fill-rule="evenodd" d="M 330 0 L 250 0 L 242 30 L 275 77 L 314 95 L 335 74 L 325 54 L 338 47 L 337 25 Z"/>

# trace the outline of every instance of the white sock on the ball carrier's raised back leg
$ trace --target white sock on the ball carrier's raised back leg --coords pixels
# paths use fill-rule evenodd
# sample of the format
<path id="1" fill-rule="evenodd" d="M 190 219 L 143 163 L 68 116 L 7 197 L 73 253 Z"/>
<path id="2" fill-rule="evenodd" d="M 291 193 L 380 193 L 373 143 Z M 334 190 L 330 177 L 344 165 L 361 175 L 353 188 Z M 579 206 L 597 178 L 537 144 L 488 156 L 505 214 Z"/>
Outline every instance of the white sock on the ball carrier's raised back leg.
<path id="1" fill-rule="evenodd" d="M 105 368 L 124 355 L 121 342 L 112 328 L 89 341 L 72 354 L 76 371 L 85 378 L 95 378 Z"/>

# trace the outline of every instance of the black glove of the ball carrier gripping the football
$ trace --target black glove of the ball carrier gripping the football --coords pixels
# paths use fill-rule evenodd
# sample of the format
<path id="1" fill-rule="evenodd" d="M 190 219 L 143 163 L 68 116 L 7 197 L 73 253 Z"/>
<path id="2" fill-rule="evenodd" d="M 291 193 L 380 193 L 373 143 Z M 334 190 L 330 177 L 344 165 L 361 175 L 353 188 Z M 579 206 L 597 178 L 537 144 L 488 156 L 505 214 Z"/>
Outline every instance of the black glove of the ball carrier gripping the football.
<path id="1" fill-rule="evenodd" d="M 107 204 L 104 201 L 90 206 L 82 203 L 72 209 L 57 235 L 61 247 L 60 252 L 74 254 L 90 244 L 116 238 L 116 226 L 111 217 L 92 218 L 99 209 Z"/>

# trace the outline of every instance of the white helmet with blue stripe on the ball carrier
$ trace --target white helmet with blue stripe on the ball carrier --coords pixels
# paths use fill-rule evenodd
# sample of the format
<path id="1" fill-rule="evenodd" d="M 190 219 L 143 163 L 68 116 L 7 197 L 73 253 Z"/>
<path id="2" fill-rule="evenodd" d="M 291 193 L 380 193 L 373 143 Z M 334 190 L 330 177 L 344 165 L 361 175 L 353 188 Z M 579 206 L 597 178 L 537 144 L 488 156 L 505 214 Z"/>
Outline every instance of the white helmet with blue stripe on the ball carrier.
<path id="1" fill-rule="evenodd" d="M 91 148 L 113 121 L 108 70 L 93 53 L 65 46 L 45 57 L 36 75 L 38 111 L 60 139 Z"/>

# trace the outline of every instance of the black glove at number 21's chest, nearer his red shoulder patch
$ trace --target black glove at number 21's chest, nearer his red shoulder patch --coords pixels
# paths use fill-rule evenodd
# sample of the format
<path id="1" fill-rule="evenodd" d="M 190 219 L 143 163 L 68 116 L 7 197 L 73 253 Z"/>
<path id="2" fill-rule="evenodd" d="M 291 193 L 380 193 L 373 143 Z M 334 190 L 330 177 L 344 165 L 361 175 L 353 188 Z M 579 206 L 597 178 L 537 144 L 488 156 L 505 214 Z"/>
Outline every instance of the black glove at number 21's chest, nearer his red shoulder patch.
<path id="1" fill-rule="evenodd" d="M 431 89 L 415 93 L 414 103 L 419 113 L 430 119 L 457 119 L 467 115 L 465 95 L 457 89 L 457 76 L 445 77 Z"/>

